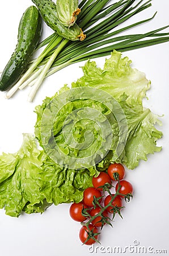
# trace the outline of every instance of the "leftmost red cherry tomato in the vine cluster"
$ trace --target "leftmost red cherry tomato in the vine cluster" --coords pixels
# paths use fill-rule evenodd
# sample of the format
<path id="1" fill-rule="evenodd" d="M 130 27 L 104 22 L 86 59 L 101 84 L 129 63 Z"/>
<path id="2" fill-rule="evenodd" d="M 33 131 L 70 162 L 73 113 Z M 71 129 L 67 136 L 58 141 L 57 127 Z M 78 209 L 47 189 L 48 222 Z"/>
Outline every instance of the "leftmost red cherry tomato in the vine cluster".
<path id="1" fill-rule="evenodd" d="M 82 215 L 82 209 L 87 208 L 82 202 L 80 203 L 73 203 L 70 206 L 69 213 L 70 217 L 73 218 L 75 221 L 85 221 L 86 217 Z"/>

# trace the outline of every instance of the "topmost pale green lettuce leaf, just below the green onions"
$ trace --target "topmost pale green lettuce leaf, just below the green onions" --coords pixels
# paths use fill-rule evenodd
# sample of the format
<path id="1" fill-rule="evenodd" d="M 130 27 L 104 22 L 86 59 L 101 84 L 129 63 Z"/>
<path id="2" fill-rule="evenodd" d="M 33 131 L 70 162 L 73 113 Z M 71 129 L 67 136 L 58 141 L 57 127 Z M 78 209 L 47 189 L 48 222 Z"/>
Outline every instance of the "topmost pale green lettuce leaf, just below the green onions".
<path id="1" fill-rule="evenodd" d="M 142 104 L 150 81 L 146 79 L 145 73 L 130 67 L 131 63 L 128 57 L 122 58 L 121 52 L 115 50 L 105 60 L 103 69 L 97 67 L 95 61 L 88 60 L 82 67 L 84 75 L 71 84 L 72 88 L 91 86 L 108 92 L 117 100 L 125 93 L 129 103 L 134 99 Z"/>

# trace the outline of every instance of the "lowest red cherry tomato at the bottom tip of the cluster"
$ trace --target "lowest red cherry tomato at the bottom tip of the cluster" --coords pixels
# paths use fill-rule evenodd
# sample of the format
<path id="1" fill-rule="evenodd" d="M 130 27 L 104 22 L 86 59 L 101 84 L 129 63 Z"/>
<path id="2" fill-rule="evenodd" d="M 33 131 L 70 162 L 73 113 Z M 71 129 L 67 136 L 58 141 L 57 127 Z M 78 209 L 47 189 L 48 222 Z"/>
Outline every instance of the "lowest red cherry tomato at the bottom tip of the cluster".
<path id="1" fill-rule="evenodd" d="M 92 230 L 93 233 L 98 233 L 98 229 L 95 226 L 89 224 L 88 228 L 90 230 Z M 88 238 L 88 233 L 87 232 L 88 232 L 87 227 L 86 226 L 82 226 L 82 228 L 80 229 L 80 232 L 79 232 L 79 238 L 80 238 L 81 242 L 84 243 L 85 245 L 92 245 L 92 243 L 96 242 L 92 238 L 89 238 L 89 240 L 87 242 L 85 242 L 87 240 L 87 238 Z M 95 237 L 96 240 L 98 240 L 98 235 L 96 235 L 94 237 Z"/>

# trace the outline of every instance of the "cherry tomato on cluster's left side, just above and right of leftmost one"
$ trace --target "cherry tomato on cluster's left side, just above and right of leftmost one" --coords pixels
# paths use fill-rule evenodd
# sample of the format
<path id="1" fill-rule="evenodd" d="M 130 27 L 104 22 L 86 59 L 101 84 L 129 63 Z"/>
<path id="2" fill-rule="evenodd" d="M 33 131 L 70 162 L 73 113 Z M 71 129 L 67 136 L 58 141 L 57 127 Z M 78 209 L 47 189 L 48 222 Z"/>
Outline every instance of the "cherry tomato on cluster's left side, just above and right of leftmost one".
<path id="1" fill-rule="evenodd" d="M 83 202 L 84 202 L 84 204 L 86 204 L 89 207 L 93 207 L 92 202 L 94 200 L 94 196 L 96 198 L 98 198 L 98 197 L 101 197 L 102 194 L 96 188 L 93 188 L 93 187 L 86 188 L 83 192 Z M 102 199 L 99 200 L 99 203 L 101 203 L 101 202 L 102 202 Z"/>

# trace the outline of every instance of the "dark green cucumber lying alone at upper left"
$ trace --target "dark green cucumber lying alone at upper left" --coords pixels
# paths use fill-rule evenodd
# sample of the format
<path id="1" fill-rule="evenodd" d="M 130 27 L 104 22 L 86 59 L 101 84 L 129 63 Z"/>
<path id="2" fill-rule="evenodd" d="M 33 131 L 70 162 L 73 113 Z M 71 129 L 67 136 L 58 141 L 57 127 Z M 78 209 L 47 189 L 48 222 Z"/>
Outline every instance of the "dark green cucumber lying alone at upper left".
<path id="1" fill-rule="evenodd" d="M 26 71 L 32 53 L 41 36 L 41 16 L 35 6 L 29 6 L 18 27 L 18 43 L 11 59 L 2 72 L 0 90 L 10 89 Z"/>

